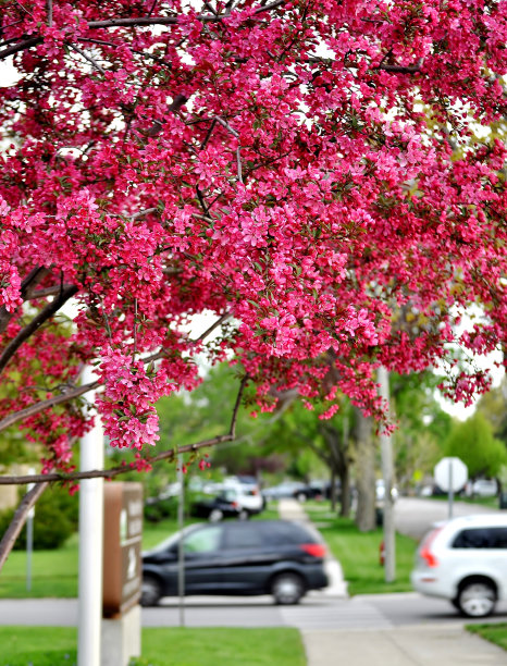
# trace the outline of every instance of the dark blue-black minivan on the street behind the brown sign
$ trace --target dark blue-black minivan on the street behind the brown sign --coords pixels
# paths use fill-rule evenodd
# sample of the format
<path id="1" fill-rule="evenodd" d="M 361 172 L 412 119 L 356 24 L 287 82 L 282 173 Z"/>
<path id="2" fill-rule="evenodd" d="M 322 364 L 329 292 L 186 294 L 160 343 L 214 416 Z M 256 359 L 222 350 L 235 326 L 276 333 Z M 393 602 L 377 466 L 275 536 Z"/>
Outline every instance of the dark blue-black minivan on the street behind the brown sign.
<path id="1" fill-rule="evenodd" d="M 177 594 L 182 533 L 143 554 L 144 606 Z M 288 520 L 194 525 L 183 531 L 185 594 L 272 594 L 297 604 L 308 590 L 327 585 L 325 546 Z"/>

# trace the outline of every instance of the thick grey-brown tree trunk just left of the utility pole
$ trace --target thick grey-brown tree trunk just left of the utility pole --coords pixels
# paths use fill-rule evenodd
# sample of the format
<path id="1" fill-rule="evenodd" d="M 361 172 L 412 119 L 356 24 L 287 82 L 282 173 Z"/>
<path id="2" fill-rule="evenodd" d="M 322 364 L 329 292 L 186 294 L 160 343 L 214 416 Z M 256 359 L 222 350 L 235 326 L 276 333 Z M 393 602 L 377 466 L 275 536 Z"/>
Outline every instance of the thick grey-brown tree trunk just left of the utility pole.
<path id="1" fill-rule="evenodd" d="M 375 529 L 375 449 L 372 439 L 371 417 L 364 417 L 355 407 L 356 439 L 356 483 L 357 511 L 356 525 L 361 532 Z"/>

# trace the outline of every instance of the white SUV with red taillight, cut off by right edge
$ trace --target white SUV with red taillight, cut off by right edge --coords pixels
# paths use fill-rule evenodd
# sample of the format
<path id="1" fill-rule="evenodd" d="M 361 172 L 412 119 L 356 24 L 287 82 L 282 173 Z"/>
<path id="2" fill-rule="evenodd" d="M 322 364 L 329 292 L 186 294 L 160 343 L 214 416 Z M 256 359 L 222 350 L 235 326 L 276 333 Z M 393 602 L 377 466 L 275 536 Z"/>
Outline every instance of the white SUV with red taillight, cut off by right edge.
<path id="1" fill-rule="evenodd" d="M 467 617 L 485 617 L 507 600 L 507 515 L 455 518 L 434 526 L 411 574 L 421 594 L 448 599 Z"/>

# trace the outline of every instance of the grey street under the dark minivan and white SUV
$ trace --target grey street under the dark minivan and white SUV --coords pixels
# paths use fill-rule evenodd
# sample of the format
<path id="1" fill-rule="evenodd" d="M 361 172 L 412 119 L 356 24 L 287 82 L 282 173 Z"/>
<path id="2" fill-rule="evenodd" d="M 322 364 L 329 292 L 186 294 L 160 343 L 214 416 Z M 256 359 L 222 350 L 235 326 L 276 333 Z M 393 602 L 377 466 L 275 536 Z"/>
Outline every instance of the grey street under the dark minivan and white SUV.
<path id="1" fill-rule="evenodd" d="M 393 629 L 415 625 L 460 626 L 466 621 L 446 601 L 416 593 L 371 594 L 335 599 L 314 592 L 298 606 L 275 606 L 269 596 L 188 597 L 184 610 L 189 627 L 296 627 L 307 629 Z M 507 621 L 507 603 L 492 618 Z M 484 621 L 484 620 L 482 620 Z M 0 600 L 0 625 L 77 625 L 76 600 Z M 144 627 L 177 627 L 177 599 L 143 609 Z"/>

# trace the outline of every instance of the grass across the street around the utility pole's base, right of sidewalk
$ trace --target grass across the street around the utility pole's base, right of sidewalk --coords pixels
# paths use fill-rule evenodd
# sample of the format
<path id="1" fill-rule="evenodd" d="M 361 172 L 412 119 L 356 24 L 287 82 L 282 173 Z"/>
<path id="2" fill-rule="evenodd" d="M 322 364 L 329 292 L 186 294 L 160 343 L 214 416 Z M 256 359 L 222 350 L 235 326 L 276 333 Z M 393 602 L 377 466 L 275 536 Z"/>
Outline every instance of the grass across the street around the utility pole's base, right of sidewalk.
<path id="1" fill-rule="evenodd" d="M 379 550 L 383 539 L 382 528 L 376 528 L 372 532 L 360 532 L 351 519 L 338 518 L 331 513 L 327 504 L 307 502 L 305 509 L 342 565 L 350 594 L 412 590 L 410 571 L 417 547 L 413 539 L 396 534 L 396 580 L 386 583 L 384 568 L 379 562 Z"/>

